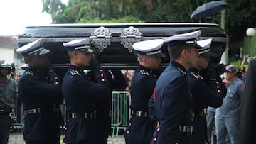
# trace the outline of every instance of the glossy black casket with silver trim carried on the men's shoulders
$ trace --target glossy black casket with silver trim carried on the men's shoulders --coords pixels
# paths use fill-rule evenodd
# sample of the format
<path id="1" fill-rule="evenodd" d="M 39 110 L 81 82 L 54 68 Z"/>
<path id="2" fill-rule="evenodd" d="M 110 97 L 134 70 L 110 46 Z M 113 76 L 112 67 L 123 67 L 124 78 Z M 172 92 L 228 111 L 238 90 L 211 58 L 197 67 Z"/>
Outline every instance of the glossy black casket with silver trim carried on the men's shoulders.
<path id="1" fill-rule="evenodd" d="M 210 58 L 220 62 L 228 37 L 219 25 L 214 23 L 112 23 L 112 24 L 58 24 L 50 26 L 28 26 L 18 35 L 20 46 L 44 38 L 50 62 L 60 69 L 69 63 L 68 53 L 63 43 L 70 40 L 91 37 L 95 45 L 95 55 L 102 67 L 119 70 L 137 68 L 137 56 L 132 44 L 142 40 L 165 38 L 179 33 L 201 30 L 200 39 L 212 38 Z M 166 51 L 166 45 L 163 46 Z M 163 67 L 169 65 L 169 57 L 163 60 Z"/>

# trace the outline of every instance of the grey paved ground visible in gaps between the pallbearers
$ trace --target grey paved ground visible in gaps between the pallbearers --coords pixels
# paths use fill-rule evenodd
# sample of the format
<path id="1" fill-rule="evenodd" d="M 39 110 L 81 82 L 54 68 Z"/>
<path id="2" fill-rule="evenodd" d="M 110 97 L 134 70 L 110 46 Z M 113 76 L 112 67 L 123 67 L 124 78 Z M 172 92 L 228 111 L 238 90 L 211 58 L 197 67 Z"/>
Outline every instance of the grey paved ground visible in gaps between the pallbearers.
<path id="1" fill-rule="evenodd" d="M 60 138 L 60 144 L 63 144 L 63 135 Z M 23 135 L 21 132 L 13 132 L 9 137 L 8 144 L 25 144 L 23 140 Z M 114 136 L 113 138 L 110 137 L 108 139 L 108 144 L 125 144 L 124 142 L 124 135 Z"/>

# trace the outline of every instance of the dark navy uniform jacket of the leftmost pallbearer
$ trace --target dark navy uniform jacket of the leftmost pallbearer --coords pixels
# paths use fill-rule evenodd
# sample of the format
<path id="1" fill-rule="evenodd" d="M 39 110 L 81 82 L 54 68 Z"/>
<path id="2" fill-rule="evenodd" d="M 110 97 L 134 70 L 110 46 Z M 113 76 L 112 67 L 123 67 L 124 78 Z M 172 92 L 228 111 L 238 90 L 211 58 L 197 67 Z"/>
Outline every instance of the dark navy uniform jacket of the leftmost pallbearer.
<path id="1" fill-rule="evenodd" d="M 46 69 L 28 67 L 18 80 L 18 93 L 23 110 L 40 108 L 40 113 L 24 116 L 23 136 L 26 141 L 55 140 L 60 135 L 59 119 L 54 106 L 63 104 L 59 82 Z M 58 139 L 59 140 L 59 139 Z"/>

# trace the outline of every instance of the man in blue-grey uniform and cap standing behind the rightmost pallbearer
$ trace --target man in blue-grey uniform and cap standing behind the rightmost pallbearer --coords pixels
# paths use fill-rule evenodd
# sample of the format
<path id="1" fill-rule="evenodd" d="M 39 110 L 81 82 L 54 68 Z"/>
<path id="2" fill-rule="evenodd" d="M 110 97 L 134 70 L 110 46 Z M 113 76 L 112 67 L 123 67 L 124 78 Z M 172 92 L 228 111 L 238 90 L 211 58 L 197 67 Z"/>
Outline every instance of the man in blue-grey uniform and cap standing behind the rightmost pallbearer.
<path id="1" fill-rule="evenodd" d="M 228 65 L 224 72 L 227 94 L 223 104 L 216 109 L 215 131 L 217 143 L 225 143 L 228 135 L 231 144 L 237 144 L 239 138 L 240 106 L 245 83 L 236 77 L 237 67 Z"/>

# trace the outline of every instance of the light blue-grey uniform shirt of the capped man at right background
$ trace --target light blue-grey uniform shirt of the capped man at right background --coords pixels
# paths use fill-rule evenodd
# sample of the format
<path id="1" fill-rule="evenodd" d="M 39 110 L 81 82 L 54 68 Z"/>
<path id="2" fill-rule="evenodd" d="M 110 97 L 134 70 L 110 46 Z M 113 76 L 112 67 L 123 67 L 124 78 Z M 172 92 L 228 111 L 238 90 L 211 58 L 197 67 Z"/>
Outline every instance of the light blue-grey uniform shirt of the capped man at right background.
<path id="1" fill-rule="evenodd" d="M 239 118 L 240 106 L 239 101 L 242 100 L 242 93 L 245 89 L 245 84 L 242 80 L 235 78 L 227 86 L 227 94 L 223 99 L 221 107 L 216 109 L 215 116 L 224 118 Z"/>

